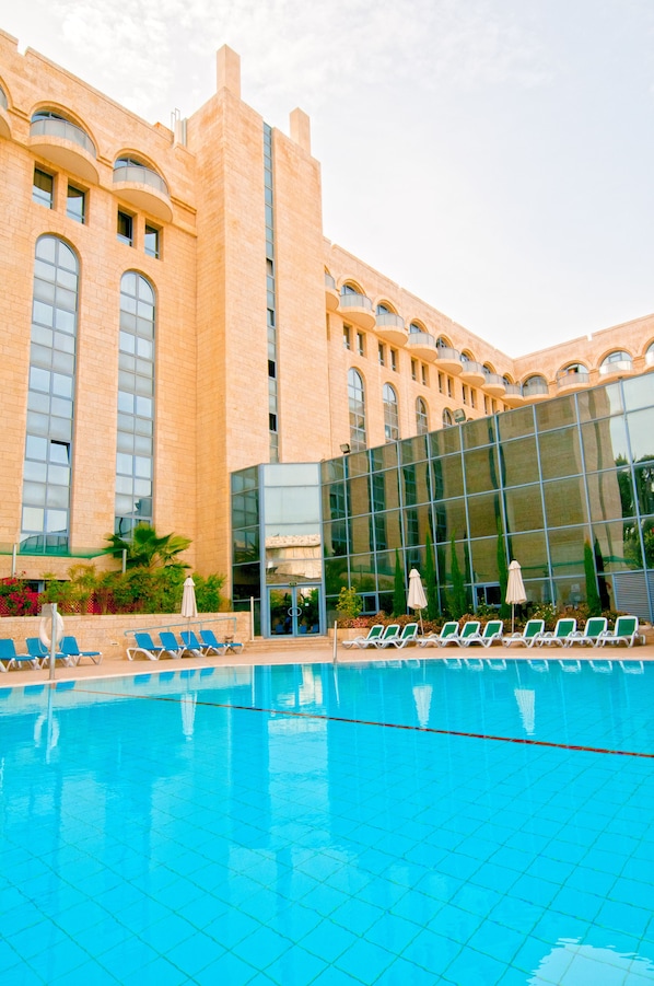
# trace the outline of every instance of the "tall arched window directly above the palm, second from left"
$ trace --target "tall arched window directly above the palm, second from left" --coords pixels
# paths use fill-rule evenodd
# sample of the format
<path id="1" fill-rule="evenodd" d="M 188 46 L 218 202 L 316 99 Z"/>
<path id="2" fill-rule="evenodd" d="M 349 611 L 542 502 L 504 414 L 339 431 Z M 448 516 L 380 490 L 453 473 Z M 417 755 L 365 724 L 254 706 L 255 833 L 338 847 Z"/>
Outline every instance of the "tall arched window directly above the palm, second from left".
<path id="1" fill-rule="evenodd" d="M 152 523 L 154 290 L 129 270 L 120 281 L 115 532 Z"/>

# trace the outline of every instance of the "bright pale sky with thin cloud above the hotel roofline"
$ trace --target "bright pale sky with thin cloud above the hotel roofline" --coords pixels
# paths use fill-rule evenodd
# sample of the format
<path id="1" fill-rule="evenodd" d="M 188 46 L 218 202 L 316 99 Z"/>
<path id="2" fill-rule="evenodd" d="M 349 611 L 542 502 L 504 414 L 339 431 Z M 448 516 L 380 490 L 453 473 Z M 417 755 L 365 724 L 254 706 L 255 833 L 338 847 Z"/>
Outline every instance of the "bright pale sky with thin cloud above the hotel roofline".
<path id="1" fill-rule="evenodd" d="M 511 356 L 654 311 L 652 0 L 31 0 L 0 26 L 170 126 L 241 55 L 324 231 Z"/>

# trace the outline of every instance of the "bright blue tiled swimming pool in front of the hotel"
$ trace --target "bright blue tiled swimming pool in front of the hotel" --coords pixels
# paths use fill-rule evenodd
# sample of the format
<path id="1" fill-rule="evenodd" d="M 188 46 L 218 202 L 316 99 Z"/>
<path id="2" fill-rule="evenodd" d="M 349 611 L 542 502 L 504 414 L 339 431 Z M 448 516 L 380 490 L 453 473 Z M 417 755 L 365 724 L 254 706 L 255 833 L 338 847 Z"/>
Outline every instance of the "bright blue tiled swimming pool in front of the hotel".
<path id="1" fill-rule="evenodd" d="M 652 984 L 653 672 L 2 689 L 2 983 Z"/>

